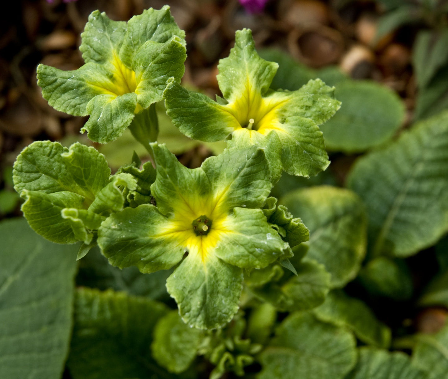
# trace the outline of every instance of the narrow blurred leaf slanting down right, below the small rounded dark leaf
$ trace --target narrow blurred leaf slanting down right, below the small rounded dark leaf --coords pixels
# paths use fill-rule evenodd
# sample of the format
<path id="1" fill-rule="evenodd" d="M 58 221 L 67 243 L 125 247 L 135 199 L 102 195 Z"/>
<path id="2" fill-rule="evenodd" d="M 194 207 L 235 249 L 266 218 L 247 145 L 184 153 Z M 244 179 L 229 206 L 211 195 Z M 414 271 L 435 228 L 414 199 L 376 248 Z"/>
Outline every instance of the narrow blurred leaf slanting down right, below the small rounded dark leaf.
<path id="1" fill-rule="evenodd" d="M 366 344 L 385 349 L 390 345 L 391 330 L 376 319 L 364 302 L 350 298 L 340 290 L 330 292 L 313 313 L 321 321 L 350 329 Z"/>

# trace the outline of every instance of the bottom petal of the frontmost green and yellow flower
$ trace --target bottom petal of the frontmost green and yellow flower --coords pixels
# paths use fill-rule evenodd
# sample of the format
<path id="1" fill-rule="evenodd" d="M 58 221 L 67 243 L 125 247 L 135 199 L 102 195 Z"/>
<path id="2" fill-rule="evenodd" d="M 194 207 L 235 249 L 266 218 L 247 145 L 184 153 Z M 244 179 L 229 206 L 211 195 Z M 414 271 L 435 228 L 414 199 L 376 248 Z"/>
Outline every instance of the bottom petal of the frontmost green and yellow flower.
<path id="1" fill-rule="evenodd" d="M 215 256 L 204 262 L 186 257 L 167 280 L 167 289 L 190 327 L 215 329 L 238 310 L 243 274 Z"/>

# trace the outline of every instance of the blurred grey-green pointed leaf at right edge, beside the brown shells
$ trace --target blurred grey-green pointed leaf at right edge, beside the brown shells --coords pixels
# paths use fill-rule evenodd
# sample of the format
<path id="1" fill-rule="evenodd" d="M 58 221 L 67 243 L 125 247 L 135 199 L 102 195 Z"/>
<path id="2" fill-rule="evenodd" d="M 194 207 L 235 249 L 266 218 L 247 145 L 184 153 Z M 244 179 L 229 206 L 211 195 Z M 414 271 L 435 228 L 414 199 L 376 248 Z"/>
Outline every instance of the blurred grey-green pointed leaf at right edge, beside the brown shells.
<path id="1" fill-rule="evenodd" d="M 418 32 L 412 56 L 419 88 L 424 88 L 436 72 L 448 64 L 448 30 Z"/>

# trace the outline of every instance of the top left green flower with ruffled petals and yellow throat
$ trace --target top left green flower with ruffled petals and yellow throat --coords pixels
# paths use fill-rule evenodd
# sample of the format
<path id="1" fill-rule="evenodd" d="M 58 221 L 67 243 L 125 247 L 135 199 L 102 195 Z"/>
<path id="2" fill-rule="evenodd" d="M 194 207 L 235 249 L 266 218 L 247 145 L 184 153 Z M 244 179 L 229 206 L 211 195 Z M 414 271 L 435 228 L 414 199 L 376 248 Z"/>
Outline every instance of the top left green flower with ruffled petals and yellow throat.
<path id="1" fill-rule="evenodd" d="M 180 81 L 184 74 L 185 32 L 169 6 L 145 10 L 127 23 L 94 11 L 81 38 L 82 67 L 63 71 L 39 64 L 37 78 L 56 110 L 90 115 L 81 132 L 92 141 L 113 141 L 133 120 L 146 119 L 145 110 L 162 100 L 168 79 Z"/>

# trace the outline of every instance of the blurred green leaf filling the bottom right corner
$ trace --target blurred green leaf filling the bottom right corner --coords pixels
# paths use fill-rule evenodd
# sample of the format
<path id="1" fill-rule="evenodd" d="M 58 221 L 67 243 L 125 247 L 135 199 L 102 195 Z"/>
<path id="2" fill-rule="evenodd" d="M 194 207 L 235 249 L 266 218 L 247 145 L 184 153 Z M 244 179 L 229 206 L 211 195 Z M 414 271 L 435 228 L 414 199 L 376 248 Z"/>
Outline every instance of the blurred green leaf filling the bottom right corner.
<path id="1" fill-rule="evenodd" d="M 425 379 L 445 378 L 448 375 L 448 326 L 437 334 L 418 336 L 412 364 L 427 374 Z"/>

